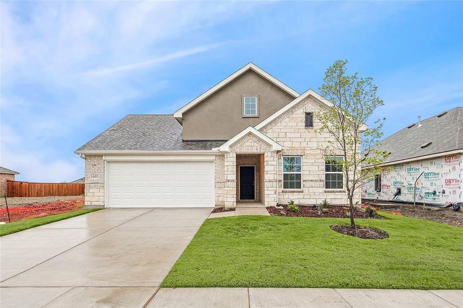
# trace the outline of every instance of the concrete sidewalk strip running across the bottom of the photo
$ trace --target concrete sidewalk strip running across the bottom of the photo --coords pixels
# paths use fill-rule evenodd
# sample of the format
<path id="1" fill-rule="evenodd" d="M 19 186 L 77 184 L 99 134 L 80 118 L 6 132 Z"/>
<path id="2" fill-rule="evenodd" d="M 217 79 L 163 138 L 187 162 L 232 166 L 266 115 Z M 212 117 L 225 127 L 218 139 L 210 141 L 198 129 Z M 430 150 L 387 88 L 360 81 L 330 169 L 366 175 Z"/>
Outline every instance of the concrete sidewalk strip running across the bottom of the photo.
<path id="1" fill-rule="evenodd" d="M 10 289 L 10 290 L 5 290 Z M 334 288 L 1 288 L 6 307 L 139 308 L 463 308 L 463 290 L 381 290 Z M 27 294 L 27 296 L 24 296 Z M 48 300 L 44 300 L 47 297 Z"/>

